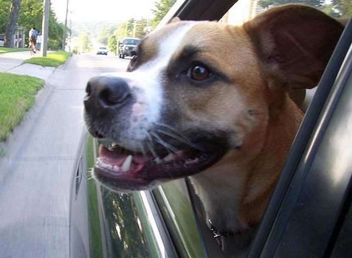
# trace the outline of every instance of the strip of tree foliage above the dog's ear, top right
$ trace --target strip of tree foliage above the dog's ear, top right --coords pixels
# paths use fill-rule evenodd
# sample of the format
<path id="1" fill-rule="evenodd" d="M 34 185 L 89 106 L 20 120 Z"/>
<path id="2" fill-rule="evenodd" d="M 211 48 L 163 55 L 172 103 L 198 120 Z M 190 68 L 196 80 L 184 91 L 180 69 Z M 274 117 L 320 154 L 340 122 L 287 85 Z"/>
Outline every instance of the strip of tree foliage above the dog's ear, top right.
<path id="1" fill-rule="evenodd" d="M 350 18 L 352 15 L 352 1 L 351 0 L 259 0 L 258 3 L 263 8 L 270 6 L 279 6 L 292 4 L 304 4 L 314 6 L 321 9 L 326 14 L 335 18 Z"/>

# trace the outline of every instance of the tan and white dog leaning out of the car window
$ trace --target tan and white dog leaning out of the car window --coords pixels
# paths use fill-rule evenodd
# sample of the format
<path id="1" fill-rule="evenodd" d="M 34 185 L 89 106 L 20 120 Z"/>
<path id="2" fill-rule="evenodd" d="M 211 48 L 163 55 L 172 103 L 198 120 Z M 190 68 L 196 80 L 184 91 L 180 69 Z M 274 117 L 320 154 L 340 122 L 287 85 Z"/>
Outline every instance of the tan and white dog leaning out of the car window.
<path id="1" fill-rule="evenodd" d="M 242 26 L 177 21 L 152 32 L 126 72 L 87 83 L 87 130 L 111 141 L 95 178 L 133 191 L 189 177 L 205 221 L 228 235 L 223 250 L 241 256 L 303 118 L 288 93 L 317 85 L 342 30 L 287 5 Z"/>

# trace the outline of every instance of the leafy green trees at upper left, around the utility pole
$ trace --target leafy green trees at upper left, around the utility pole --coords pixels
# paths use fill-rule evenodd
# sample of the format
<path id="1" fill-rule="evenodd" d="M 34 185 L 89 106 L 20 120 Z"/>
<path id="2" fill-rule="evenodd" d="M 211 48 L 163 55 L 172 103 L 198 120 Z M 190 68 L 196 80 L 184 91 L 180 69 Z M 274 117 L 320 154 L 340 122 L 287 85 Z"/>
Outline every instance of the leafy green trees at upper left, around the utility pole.
<path id="1" fill-rule="evenodd" d="M 12 46 L 9 39 L 13 38 L 16 26 L 24 28 L 26 33 L 31 27 L 40 31 L 42 18 L 43 0 L 0 0 L 0 33 L 6 35 L 6 46 Z M 56 15 L 50 7 L 48 48 L 61 48 L 63 27 L 64 25 L 57 21 Z"/>

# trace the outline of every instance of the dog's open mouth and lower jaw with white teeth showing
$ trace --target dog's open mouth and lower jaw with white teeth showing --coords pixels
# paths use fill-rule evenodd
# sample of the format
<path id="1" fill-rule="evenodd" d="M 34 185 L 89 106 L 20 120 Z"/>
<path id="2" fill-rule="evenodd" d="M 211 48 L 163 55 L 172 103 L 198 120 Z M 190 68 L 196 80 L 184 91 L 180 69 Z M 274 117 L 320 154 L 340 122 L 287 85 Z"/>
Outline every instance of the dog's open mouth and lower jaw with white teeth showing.
<path id="1" fill-rule="evenodd" d="M 228 148 L 217 142 L 202 150 L 138 153 L 118 145 L 100 145 L 94 177 L 115 191 L 151 189 L 162 182 L 199 173 L 223 157 Z"/>

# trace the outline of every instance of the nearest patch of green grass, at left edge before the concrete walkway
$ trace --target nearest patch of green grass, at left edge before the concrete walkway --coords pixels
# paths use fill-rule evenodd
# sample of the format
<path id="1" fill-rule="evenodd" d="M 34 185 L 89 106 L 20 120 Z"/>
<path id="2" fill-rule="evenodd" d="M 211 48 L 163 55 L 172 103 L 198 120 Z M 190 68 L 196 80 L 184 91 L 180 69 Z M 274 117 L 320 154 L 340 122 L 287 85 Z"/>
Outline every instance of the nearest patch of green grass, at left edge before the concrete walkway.
<path id="1" fill-rule="evenodd" d="M 18 125 L 35 102 L 44 80 L 10 73 L 0 73 L 0 141 Z"/>

